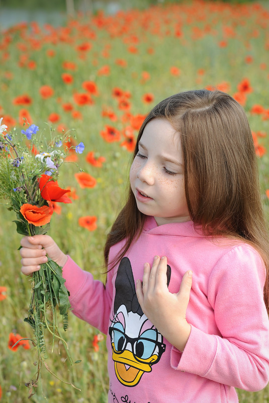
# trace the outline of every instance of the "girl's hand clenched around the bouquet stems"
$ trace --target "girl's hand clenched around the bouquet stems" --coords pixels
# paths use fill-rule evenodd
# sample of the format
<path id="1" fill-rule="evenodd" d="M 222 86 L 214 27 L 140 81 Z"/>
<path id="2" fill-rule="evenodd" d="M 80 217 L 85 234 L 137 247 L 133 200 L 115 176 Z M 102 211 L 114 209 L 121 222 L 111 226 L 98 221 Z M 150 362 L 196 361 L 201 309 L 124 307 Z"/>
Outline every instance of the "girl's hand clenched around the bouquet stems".
<path id="1" fill-rule="evenodd" d="M 41 263 L 47 262 L 46 255 L 61 267 L 68 259 L 49 235 L 24 236 L 21 246 L 21 270 L 25 275 L 38 271 Z"/>

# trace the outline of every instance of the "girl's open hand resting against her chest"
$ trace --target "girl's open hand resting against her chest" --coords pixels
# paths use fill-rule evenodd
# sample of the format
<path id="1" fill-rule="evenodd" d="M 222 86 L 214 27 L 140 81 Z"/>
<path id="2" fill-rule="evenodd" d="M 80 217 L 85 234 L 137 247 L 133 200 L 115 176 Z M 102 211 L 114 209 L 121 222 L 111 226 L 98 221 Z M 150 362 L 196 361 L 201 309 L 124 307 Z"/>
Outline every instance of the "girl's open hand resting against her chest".
<path id="1" fill-rule="evenodd" d="M 171 294 L 166 284 L 167 259 L 155 256 L 150 269 L 144 265 L 143 283 L 137 280 L 138 302 L 163 337 L 178 350 L 183 351 L 191 333 L 187 323 L 186 311 L 192 287 L 192 271 L 184 274 L 180 290 Z"/>

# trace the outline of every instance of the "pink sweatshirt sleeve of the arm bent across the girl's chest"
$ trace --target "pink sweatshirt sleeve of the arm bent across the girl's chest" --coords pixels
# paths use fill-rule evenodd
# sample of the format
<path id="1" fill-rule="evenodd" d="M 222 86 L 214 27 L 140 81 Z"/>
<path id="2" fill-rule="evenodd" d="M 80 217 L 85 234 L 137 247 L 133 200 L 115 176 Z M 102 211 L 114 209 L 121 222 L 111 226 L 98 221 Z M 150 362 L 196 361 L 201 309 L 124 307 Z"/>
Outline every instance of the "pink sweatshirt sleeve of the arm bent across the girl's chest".
<path id="1" fill-rule="evenodd" d="M 171 366 L 215 382 L 257 391 L 269 380 L 269 321 L 263 302 L 265 269 L 250 246 L 237 246 L 216 264 L 208 300 L 221 336 L 192 326 L 183 353 Z"/>

